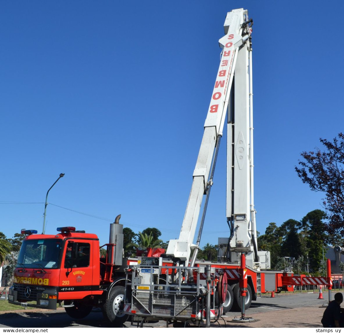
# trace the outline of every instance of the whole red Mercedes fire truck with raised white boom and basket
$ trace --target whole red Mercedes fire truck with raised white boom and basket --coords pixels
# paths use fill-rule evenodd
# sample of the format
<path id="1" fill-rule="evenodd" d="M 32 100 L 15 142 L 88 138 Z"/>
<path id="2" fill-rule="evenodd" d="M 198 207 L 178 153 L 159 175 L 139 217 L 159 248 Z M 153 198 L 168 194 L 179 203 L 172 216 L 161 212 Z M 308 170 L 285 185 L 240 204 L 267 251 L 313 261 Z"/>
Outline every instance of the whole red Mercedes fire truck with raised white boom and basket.
<path id="1" fill-rule="evenodd" d="M 106 258 L 94 233 L 57 228 L 56 235 L 25 230 L 9 302 L 45 309 L 63 306 L 73 318 L 93 307 L 116 325 L 165 320 L 184 324 L 209 321 L 232 308 L 245 314 L 261 293 L 293 290 L 294 285 L 328 285 L 331 278 L 294 277 L 269 270 L 269 252 L 258 251 L 253 196 L 252 20 L 247 11 L 227 13 L 219 40 L 222 58 L 204 124 L 193 183 L 178 239 L 164 258 L 123 258 L 120 215 L 110 225 Z M 234 75 L 235 74 L 235 75 Z M 234 78 L 235 77 L 235 78 Z M 220 238 L 217 262 L 197 261 L 207 202 L 227 114 L 228 237 Z M 205 203 L 196 244 L 198 216 Z M 193 256 L 191 257 L 191 251 Z"/>

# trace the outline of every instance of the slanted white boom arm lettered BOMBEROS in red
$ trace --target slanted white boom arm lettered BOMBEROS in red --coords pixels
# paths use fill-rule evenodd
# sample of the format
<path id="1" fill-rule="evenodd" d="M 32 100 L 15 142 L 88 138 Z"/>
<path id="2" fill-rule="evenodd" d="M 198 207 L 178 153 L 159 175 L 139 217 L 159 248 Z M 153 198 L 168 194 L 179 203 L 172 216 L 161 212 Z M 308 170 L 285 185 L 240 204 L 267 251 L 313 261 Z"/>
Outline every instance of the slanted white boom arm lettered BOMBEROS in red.
<path id="1" fill-rule="evenodd" d="M 195 236 L 203 195 L 206 194 L 207 190 L 207 181 L 217 143 L 217 137 L 218 135 L 222 136 L 227 112 L 227 103 L 230 88 L 232 86 L 235 59 L 238 53 L 242 53 L 239 52 L 239 47 L 249 38 L 248 34 L 244 36 L 241 35 L 243 31 L 241 25 L 245 22 L 246 15 L 247 11 L 244 9 L 236 9 L 227 13 L 225 21 L 226 34 L 219 40 L 220 47 L 223 49 L 222 58 L 204 124 L 203 139 L 193 173 L 193 183 L 186 206 L 182 228 L 179 238 L 170 240 L 166 251 L 167 256 L 179 258 L 181 261 L 185 261 L 186 265 L 189 262 L 191 247 L 195 246 L 192 242 Z M 246 43 L 248 43 L 248 41 Z M 243 49 L 246 49 L 246 47 Z M 241 55 L 240 57 L 242 58 Z M 240 63 L 242 62 L 243 60 L 240 60 Z M 241 71 L 246 71 L 247 69 L 248 68 L 245 67 L 245 69 L 241 69 Z M 244 76 L 246 77 L 246 75 Z M 244 78 L 243 80 L 246 79 Z M 246 105 L 246 100 L 248 100 L 248 97 L 245 96 L 244 101 L 241 103 Z M 248 141 L 245 141 L 245 143 L 247 142 Z M 246 149 L 245 154 L 247 154 L 246 146 L 244 149 Z"/>

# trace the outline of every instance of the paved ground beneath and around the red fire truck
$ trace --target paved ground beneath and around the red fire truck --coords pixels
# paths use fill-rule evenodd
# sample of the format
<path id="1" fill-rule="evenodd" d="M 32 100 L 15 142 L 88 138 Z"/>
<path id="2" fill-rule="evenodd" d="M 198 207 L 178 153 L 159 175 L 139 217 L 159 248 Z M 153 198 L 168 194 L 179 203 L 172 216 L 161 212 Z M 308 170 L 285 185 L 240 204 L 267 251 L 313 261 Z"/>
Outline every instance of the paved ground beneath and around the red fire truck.
<path id="1" fill-rule="evenodd" d="M 229 312 L 218 322 L 212 322 L 211 327 L 322 327 L 321 318 L 324 303 L 328 303 L 327 292 L 324 299 L 318 299 L 316 293 L 265 294 L 257 301 L 252 302 L 246 316 L 254 322 L 233 322 L 233 318 L 240 318 L 238 312 Z M 57 311 L 28 309 L 15 313 L 0 312 L 0 327 L 111 327 L 103 320 L 101 312 L 91 312 L 86 318 L 74 320 L 68 317 L 64 309 Z M 130 322 L 126 327 L 132 327 Z M 136 326 L 136 325 L 135 325 Z M 163 321 L 147 323 L 144 327 L 166 327 Z"/>

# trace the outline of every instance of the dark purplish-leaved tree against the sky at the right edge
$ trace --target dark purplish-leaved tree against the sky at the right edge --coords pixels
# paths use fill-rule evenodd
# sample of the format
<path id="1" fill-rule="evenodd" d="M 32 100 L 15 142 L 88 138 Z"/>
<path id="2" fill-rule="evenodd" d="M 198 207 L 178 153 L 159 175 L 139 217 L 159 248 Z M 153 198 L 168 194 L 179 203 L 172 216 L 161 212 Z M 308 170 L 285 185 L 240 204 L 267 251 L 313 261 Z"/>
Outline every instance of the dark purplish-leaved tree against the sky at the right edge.
<path id="1" fill-rule="evenodd" d="M 326 210 L 329 234 L 344 237 L 344 134 L 339 133 L 333 142 L 320 138 L 324 151 L 302 152 L 300 168 L 295 171 L 312 191 L 324 192 L 323 205 Z"/>

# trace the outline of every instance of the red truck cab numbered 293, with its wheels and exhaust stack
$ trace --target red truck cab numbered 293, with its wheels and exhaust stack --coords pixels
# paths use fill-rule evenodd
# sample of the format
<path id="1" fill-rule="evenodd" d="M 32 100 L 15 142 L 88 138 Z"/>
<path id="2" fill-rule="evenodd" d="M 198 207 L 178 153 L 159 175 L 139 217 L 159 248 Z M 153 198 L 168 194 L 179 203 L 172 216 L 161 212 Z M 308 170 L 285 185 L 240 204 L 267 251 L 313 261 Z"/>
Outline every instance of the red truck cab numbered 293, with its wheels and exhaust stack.
<path id="1" fill-rule="evenodd" d="M 121 306 L 128 261 L 122 255 L 119 218 L 110 225 L 105 258 L 100 258 L 99 239 L 94 233 L 75 227 L 57 228 L 56 235 L 23 230 L 27 236 L 14 270 L 9 303 L 52 310 L 63 306 L 75 319 L 97 307 L 106 319 L 121 325 L 128 318 Z"/>

